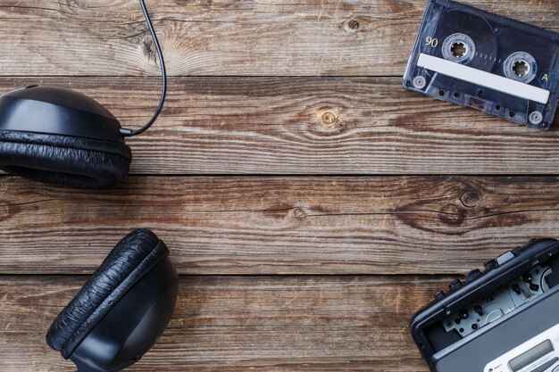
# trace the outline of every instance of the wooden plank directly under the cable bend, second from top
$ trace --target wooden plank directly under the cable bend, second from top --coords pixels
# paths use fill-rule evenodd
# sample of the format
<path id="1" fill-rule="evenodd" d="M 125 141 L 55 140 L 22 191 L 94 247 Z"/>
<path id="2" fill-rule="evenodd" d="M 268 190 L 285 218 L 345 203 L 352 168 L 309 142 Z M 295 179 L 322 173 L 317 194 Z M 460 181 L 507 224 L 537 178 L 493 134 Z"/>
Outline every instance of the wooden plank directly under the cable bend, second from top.
<path id="1" fill-rule="evenodd" d="M 157 79 L 1 79 L 74 87 L 139 128 Z M 400 79 L 178 78 L 129 140 L 139 174 L 556 174 L 549 132 L 406 92 Z"/>

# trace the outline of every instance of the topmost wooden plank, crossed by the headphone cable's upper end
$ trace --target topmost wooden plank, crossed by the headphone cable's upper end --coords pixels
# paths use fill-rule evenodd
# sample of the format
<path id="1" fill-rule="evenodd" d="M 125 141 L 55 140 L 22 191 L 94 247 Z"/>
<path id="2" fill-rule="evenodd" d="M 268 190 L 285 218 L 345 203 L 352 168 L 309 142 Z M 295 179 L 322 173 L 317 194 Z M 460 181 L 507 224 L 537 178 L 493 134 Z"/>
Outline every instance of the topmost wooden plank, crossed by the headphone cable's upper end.
<path id="1" fill-rule="evenodd" d="M 400 76 L 424 0 L 148 1 L 172 75 Z M 555 0 L 463 0 L 558 29 Z M 138 1 L 3 0 L 0 74 L 157 74 Z"/>

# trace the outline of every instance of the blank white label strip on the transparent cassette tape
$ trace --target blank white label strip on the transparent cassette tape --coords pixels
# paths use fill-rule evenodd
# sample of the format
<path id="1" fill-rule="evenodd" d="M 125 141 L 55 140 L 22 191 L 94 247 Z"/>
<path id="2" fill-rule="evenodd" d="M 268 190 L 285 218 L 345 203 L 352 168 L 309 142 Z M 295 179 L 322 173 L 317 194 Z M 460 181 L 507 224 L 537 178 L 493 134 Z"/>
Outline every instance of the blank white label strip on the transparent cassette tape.
<path id="1" fill-rule="evenodd" d="M 451 78 L 463 80 L 480 87 L 488 87 L 507 95 L 514 95 L 537 103 L 548 103 L 551 95 L 546 89 L 530 86 L 483 70 L 473 69 L 460 63 L 446 61 L 429 54 L 420 54 L 417 65 Z"/>

